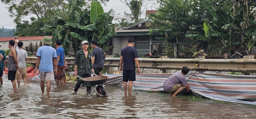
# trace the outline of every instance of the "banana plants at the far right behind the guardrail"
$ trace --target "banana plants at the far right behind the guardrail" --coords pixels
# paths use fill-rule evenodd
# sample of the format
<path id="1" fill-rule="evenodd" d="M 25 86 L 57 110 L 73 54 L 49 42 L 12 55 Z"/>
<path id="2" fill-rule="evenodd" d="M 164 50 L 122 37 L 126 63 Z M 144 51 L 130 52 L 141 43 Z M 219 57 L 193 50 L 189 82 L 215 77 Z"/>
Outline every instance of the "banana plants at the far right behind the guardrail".
<path id="1" fill-rule="evenodd" d="M 213 55 L 216 55 L 216 50 L 221 50 L 220 53 L 230 54 L 238 49 L 249 51 L 255 42 L 253 35 L 256 35 L 256 23 L 252 15 L 255 12 L 253 11 L 255 6 L 247 7 L 247 5 L 255 5 L 255 1 L 247 1 L 248 3 L 244 3 L 247 5 L 239 5 L 237 10 L 234 8 L 238 5 L 238 3 L 234 4 L 235 1 L 228 1 L 226 4 L 211 4 L 206 0 L 202 1 L 208 11 L 211 12 L 213 19 L 211 22 L 206 20 L 204 23 L 205 36 L 189 34 L 186 37 L 208 41 L 209 51 Z M 232 4 L 235 6 L 230 9 Z M 245 11 L 249 11 L 250 14 Z M 219 46 L 219 43 L 222 45 Z"/>

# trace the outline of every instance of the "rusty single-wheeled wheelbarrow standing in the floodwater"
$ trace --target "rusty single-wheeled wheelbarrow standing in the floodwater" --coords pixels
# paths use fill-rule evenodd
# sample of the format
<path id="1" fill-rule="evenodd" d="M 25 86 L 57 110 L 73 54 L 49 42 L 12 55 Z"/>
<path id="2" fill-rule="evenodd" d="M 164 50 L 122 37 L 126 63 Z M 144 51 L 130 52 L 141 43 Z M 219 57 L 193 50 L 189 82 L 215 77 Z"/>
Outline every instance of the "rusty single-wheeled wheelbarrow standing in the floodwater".
<path id="1" fill-rule="evenodd" d="M 94 75 L 96 75 L 96 74 L 94 74 Z M 79 80 L 83 80 L 85 82 L 86 86 L 92 86 L 94 88 L 94 92 L 96 92 L 97 97 L 108 96 L 108 93 L 105 91 L 105 88 L 103 85 L 104 83 L 106 83 L 108 76 L 96 75 L 96 76 L 92 76 L 92 77 L 88 77 L 88 78 L 82 78 L 80 76 L 77 76 L 77 77 L 80 78 Z"/>

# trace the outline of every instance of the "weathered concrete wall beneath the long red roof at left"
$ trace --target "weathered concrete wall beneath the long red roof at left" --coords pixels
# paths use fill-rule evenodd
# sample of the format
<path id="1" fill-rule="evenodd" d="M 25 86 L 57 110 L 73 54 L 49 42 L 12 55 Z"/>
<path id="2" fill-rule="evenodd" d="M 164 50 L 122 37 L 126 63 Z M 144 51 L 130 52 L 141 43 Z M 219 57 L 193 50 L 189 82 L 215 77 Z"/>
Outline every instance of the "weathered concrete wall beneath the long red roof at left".
<path id="1" fill-rule="evenodd" d="M 25 48 L 28 47 L 28 50 L 30 52 L 36 52 L 40 46 L 43 46 L 42 40 L 24 40 L 21 42 L 23 42 L 22 49 L 25 50 Z M 9 49 L 9 41 L 0 41 L 0 43 L 1 43 L 1 48 L 0 48 L 1 50 Z"/>

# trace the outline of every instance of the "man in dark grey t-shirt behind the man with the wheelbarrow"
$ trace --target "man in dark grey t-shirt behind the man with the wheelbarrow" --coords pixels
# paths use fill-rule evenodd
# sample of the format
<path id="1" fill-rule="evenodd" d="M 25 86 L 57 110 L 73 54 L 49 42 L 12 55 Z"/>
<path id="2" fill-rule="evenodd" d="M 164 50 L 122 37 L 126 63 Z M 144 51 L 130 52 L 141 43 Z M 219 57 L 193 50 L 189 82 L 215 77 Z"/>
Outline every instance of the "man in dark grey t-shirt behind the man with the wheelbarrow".
<path id="1" fill-rule="evenodd" d="M 96 75 L 102 75 L 102 70 L 104 67 L 104 57 L 106 56 L 105 52 L 98 47 L 98 42 L 96 40 L 91 41 L 92 50 L 92 65 L 94 73 Z M 104 56 L 104 57 L 103 57 Z"/>

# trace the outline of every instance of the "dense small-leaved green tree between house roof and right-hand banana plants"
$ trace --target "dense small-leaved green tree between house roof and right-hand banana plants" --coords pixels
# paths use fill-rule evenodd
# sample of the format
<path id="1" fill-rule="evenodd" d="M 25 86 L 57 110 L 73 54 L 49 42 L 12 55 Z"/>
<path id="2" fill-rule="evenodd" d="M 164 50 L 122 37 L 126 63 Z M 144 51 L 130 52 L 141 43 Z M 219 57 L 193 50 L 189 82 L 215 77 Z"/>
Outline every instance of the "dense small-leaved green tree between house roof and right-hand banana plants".
<path id="1" fill-rule="evenodd" d="M 158 0 L 160 6 L 151 14 L 154 22 L 152 32 L 168 34 L 169 39 L 180 41 L 185 34 L 203 33 L 202 18 L 210 18 L 201 1 L 197 0 Z"/>

